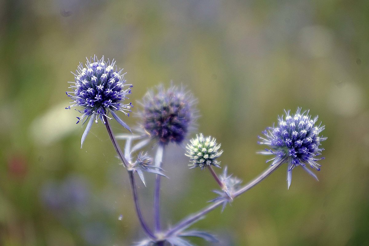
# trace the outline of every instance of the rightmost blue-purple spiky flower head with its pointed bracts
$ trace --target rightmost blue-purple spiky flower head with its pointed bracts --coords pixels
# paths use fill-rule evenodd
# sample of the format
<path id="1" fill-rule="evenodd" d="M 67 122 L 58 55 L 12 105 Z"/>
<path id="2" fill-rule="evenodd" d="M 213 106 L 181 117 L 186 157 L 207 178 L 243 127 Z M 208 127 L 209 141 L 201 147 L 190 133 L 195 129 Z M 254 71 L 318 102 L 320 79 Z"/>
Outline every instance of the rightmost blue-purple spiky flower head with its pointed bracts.
<path id="1" fill-rule="evenodd" d="M 317 176 L 306 167 L 310 165 L 312 169 L 320 171 L 321 165 L 316 161 L 324 159 L 317 158 L 321 155 L 320 148 L 322 141 L 327 138 L 319 136 L 324 130 L 324 126 L 315 124 L 318 116 L 311 118 L 309 111 L 301 113 L 301 108 L 297 108 L 296 114 L 290 115 L 289 111 L 284 111 L 286 117 L 278 117 L 278 125 L 269 127 L 263 134 L 265 137 L 259 136 L 260 144 L 268 145 L 266 152 L 260 152 L 265 155 L 275 155 L 272 166 L 278 162 L 287 162 L 287 187 L 289 188 L 292 180 L 292 169 L 296 166 L 303 167 L 311 176 L 318 180 Z"/>

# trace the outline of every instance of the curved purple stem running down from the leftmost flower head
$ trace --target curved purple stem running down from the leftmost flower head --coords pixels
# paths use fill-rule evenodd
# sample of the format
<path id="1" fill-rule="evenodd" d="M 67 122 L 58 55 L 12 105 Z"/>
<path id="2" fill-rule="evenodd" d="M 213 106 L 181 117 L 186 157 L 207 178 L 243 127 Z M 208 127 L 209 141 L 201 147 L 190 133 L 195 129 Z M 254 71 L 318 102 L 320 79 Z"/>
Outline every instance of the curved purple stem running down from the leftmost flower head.
<path id="1" fill-rule="evenodd" d="M 114 145 L 115 151 L 117 151 L 119 158 L 121 159 L 121 161 L 123 162 L 123 165 L 127 168 L 128 167 L 128 161 L 127 159 L 125 159 L 122 150 L 120 149 L 117 140 L 115 139 L 115 136 L 113 134 L 113 131 L 110 127 L 109 121 L 107 119 L 107 117 L 104 115 L 103 116 L 104 121 L 105 121 L 105 126 L 106 129 L 108 131 L 108 134 L 110 136 L 111 142 Z M 138 195 L 137 195 L 137 187 L 136 187 L 136 183 L 135 183 L 135 179 L 134 179 L 134 171 L 130 171 L 127 170 L 129 177 L 130 177 L 130 183 L 131 183 L 131 188 L 132 188 L 132 196 L 133 196 L 133 201 L 135 204 L 135 209 L 137 212 L 137 217 L 139 220 L 139 223 L 142 227 L 142 229 L 144 230 L 144 232 L 152 239 L 156 239 L 156 236 L 154 235 L 154 233 L 151 232 L 150 228 L 148 227 L 148 225 L 146 224 L 146 222 L 144 221 L 144 218 L 142 216 L 142 212 L 141 209 L 139 207 L 139 203 L 138 203 Z"/>

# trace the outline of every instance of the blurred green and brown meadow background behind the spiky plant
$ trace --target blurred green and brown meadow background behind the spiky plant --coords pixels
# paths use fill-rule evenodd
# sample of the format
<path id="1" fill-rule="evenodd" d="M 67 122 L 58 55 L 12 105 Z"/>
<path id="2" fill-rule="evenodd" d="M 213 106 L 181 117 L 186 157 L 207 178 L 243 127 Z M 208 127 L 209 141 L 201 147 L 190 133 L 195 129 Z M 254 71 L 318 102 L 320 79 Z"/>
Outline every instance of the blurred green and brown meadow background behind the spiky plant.
<path id="1" fill-rule="evenodd" d="M 282 166 L 193 228 L 218 245 L 369 245 L 368 10 L 366 0 L 0 1 L 0 245 L 143 236 L 105 128 L 94 124 L 80 149 L 84 127 L 64 109 L 70 71 L 94 54 L 124 67 L 134 111 L 160 82 L 187 86 L 198 132 L 222 143 L 222 166 L 245 183 L 268 167 L 257 136 L 283 109 L 310 109 L 326 125 L 319 182 L 296 168 L 287 190 Z M 206 206 L 217 187 L 183 152 L 166 151 L 164 225 Z M 152 181 L 139 185 L 148 221 Z"/>

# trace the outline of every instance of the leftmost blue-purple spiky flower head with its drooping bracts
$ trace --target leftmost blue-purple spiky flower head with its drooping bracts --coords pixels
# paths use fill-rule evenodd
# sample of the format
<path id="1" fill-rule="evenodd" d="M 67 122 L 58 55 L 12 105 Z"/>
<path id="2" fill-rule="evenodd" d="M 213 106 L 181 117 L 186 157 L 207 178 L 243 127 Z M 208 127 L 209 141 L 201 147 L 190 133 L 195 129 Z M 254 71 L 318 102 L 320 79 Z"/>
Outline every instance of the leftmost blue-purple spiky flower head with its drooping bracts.
<path id="1" fill-rule="evenodd" d="M 84 120 L 83 124 L 85 124 L 90 118 L 82 135 L 81 148 L 93 121 L 95 120 L 97 123 L 97 120 L 100 119 L 105 124 L 103 116 L 109 118 L 109 112 L 116 121 L 131 131 L 128 125 L 115 114 L 115 111 L 121 111 L 127 116 L 129 116 L 129 112 L 132 112 L 130 110 L 133 107 L 132 104 L 123 103 L 127 95 L 131 94 L 130 88 L 132 85 L 125 84 L 124 74 L 121 74 L 123 69 L 118 70 L 114 65 L 114 59 L 111 62 L 110 60 L 105 62 L 104 56 L 101 59 L 97 59 L 96 56 L 91 57 L 90 60 L 87 59 L 85 67 L 82 63 L 79 63 L 76 73 L 73 73 L 75 82 L 69 82 L 72 83 L 69 88 L 73 91 L 67 91 L 66 94 L 73 101 L 71 102 L 72 105 L 66 107 L 66 109 L 80 107 L 80 110 L 77 111 L 82 115 L 77 117 L 77 123 Z M 123 89 L 124 86 L 128 86 L 127 89 Z"/>

